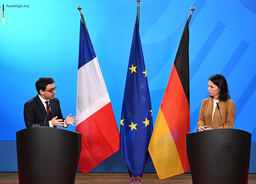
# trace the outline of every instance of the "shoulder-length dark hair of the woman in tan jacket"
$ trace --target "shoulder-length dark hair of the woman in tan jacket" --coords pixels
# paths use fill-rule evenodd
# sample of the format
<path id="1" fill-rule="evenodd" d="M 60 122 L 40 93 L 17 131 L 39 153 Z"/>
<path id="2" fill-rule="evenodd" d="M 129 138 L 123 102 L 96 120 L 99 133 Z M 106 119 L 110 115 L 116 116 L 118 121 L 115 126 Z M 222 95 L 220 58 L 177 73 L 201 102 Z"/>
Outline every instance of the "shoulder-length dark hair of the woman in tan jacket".
<path id="1" fill-rule="evenodd" d="M 228 83 L 226 81 L 226 78 L 221 74 L 213 75 L 209 78 L 210 81 L 213 82 L 216 86 L 219 87 L 219 100 L 226 102 L 228 99 L 230 99 L 229 95 L 229 89 L 228 89 Z"/>

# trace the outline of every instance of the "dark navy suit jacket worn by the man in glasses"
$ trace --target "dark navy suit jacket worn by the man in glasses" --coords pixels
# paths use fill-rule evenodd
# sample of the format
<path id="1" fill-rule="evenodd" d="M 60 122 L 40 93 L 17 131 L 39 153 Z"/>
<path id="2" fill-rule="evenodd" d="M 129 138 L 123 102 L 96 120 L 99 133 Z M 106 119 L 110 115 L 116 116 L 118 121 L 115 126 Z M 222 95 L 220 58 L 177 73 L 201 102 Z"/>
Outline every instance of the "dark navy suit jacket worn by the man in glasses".
<path id="1" fill-rule="evenodd" d="M 65 120 L 65 118 L 63 118 L 62 116 L 59 100 L 57 98 L 50 100 L 50 107 L 51 107 L 51 119 L 54 118 L 55 116 L 58 116 L 57 119 L 62 119 L 63 121 Z M 45 118 L 46 118 L 46 121 L 45 121 Z M 27 128 L 32 127 L 33 124 L 40 124 L 40 126 L 49 127 L 50 120 L 48 116 L 46 117 L 45 107 L 38 95 L 28 100 L 24 104 L 24 121 Z M 44 121 L 45 121 L 45 124 L 44 124 Z"/>

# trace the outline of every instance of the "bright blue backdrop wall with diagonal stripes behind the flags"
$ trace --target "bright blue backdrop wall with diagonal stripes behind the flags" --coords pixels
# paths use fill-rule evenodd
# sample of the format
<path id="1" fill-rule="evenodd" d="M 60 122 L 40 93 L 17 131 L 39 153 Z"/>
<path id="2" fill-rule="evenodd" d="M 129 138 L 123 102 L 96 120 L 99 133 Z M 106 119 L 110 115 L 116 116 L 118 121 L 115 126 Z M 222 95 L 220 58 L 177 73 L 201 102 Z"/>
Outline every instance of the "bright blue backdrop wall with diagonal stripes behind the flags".
<path id="1" fill-rule="evenodd" d="M 54 78 L 63 116 L 75 115 L 79 5 L 120 127 L 136 0 L 2 0 L 0 140 L 16 140 L 15 133 L 25 128 L 23 106 L 37 95 L 35 81 L 40 77 Z M 234 128 L 250 132 L 256 142 L 256 1 L 141 0 L 139 31 L 153 122 L 192 6 L 190 131 L 197 130 L 200 105 L 208 97 L 208 78 L 221 73 L 236 106 Z M 75 131 L 75 127 L 68 130 Z"/>

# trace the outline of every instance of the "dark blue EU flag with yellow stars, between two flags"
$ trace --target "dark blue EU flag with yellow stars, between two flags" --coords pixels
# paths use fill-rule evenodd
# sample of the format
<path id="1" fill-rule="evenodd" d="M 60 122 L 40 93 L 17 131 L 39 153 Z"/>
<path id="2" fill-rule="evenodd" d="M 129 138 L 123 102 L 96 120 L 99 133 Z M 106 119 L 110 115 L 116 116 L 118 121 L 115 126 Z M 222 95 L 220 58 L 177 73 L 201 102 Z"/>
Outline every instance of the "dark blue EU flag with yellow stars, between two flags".
<path id="1" fill-rule="evenodd" d="M 152 131 L 151 100 L 136 18 L 120 125 L 120 152 L 134 177 L 143 174 L 145 164 L 151 161 L 148 146 Z"/>

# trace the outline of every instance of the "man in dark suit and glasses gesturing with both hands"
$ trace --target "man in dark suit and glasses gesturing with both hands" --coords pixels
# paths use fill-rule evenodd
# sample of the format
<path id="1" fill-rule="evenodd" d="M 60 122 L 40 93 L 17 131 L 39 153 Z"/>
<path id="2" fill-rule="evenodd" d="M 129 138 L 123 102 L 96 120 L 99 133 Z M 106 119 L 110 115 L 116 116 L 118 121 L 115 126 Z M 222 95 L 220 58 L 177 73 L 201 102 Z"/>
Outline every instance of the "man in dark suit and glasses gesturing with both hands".
<path id="1" fill-rule="evenodd" d="M 67 127 L 69 124 L 75 126 L 74 123 L 77 123 L 78 119 L 71 117 L 72 114 L 66 119 L 62 116 L 59 100 L 54 98 L 57 87 L 54 86 L 53 78 L 39 78 L 36 81 L 36 89 L 38 95 L 24 104 L 24 121 L 27 128 L 33 124 L 46 127 Z M 50 111 L 50 118 L 47 110 Z"/>

